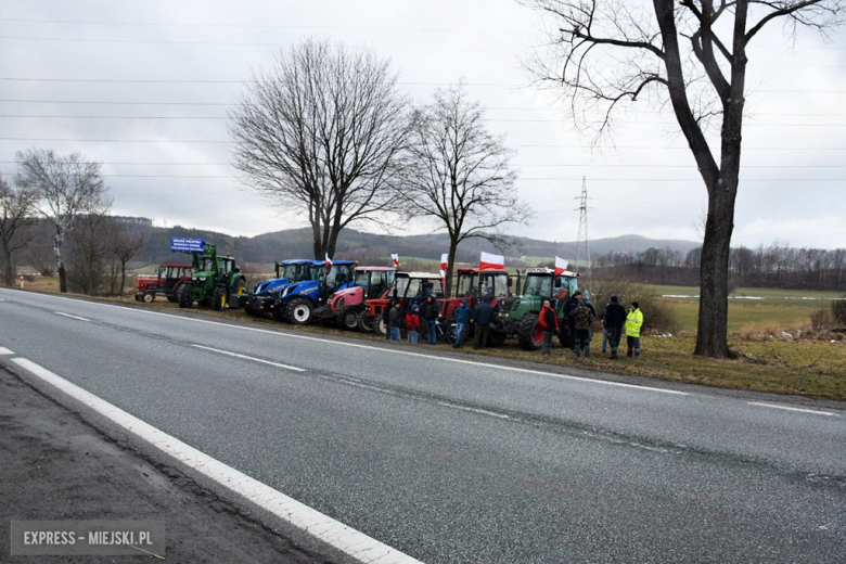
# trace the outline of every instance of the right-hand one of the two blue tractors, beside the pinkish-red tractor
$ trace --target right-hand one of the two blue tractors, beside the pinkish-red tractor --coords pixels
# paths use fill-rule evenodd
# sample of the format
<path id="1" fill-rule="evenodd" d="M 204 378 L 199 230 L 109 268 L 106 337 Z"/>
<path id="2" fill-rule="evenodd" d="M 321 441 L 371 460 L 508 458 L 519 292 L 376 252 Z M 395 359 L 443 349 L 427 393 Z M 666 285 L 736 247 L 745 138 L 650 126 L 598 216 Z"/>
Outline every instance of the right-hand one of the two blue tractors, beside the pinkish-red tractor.
<path id="1" fill-rule="evenodd" d="M 326 298 L 352 283 L 351 260 L 336 260 L 326 267 L 322 260 L 311 260 L 311 277 L 302 282 L 292 282 L 274 294 L 273 317 L 295 325 L 306 325 L 315 319 L 315 310 L 326 303 Z"/>

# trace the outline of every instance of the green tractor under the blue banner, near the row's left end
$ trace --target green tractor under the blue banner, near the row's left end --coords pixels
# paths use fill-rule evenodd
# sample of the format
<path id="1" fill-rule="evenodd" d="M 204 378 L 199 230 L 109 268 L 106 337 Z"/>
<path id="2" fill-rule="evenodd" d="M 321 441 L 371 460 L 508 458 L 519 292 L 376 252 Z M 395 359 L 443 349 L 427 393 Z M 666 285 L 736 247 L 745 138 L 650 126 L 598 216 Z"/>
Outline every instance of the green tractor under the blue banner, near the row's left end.
<path id="1" fill-rule="evenodd" d="M 194 302 L 201 306 L 211 306 L 220 311 L 229 306 L 240 308 L 246 279 L 229 254 L 217 255 L 215 245 L 205 245 L 202 252 L 190 252 L 194 257 L 194 273 L 189 282 L 179 286 L 177 302 L 179 307 L 190 308 Z"/>

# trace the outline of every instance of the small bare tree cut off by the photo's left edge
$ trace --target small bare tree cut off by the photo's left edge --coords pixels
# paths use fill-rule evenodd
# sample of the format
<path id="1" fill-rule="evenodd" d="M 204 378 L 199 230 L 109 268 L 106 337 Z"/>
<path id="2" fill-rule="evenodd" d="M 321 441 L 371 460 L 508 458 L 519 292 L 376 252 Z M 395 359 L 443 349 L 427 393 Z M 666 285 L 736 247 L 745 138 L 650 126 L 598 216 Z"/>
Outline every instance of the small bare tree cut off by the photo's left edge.
<path id="1" fill-rule="evenodd" d="M 3 252 L 3 283 L 14 284 L 13 255 L 24 248 L 35 231 L 27 229 L 36 211 L 38 194 L 34 190 L 13 188 L 0 178 L 0 247 Z"/>

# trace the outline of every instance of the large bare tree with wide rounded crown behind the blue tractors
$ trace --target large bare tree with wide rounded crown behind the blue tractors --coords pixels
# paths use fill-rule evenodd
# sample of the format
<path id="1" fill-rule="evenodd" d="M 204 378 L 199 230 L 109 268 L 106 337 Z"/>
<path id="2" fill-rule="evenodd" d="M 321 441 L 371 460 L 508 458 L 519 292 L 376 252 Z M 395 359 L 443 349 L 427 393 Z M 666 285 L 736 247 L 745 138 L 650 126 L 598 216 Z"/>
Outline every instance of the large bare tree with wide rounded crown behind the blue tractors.
<path id="1" fill-rule="evenodd" d="M 248 189 L 304 210 L 315 258 L 355 222 L 384 223 L 409 134 L 409 100 L 389 61 L 307 40 L 245 84 L 230 112 L 235 167 Z"/>

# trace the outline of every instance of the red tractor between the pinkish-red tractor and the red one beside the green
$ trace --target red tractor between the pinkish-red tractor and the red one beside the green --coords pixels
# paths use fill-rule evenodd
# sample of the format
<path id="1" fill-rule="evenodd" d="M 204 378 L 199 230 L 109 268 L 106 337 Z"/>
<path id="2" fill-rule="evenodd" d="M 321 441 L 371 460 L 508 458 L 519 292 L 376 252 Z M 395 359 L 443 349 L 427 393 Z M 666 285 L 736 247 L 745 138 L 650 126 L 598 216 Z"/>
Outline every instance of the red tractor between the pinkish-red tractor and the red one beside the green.
<path id="1" fill-rule="evenodd" d="M 364 303 L 364 311 L 359 318 L 359 329 L 367 333 L 376 332 L 386 335 L 388 328 L 383 320 L 385 308 L 390 302 L 400 302 L 400 309 L 409 310 L 411 304 L 416 302 L 422 306 L 428 296 L 436 299 L 444 297 L 444 281 L 440 274 L 433 272 L 397 272 L 394 285 L 382 297 L 368 299 Z M 420 333 L 420 339 L 425 339 L 425 324 Z"/>

